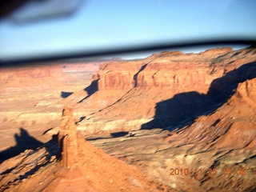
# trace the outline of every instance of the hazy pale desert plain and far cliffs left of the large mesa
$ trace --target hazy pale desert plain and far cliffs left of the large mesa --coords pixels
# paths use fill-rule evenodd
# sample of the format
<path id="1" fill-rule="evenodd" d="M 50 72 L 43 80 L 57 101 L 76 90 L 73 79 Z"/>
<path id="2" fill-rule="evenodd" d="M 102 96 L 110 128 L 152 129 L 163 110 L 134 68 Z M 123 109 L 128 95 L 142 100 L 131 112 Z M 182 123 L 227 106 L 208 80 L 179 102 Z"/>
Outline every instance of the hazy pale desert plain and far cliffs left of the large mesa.
<path id="1" fill-rule="evenodd" d="M 75 90 L 89 86 L 100 62 L 0 66 L 0 134 L 3 135 L 0 150 L 15 145 L 13 135 L 19 129 L 28 130 L 42 142 L 48 141 L 51 135 L 42 133 L 61 122 L 65 105 L 60 102 Z"/>

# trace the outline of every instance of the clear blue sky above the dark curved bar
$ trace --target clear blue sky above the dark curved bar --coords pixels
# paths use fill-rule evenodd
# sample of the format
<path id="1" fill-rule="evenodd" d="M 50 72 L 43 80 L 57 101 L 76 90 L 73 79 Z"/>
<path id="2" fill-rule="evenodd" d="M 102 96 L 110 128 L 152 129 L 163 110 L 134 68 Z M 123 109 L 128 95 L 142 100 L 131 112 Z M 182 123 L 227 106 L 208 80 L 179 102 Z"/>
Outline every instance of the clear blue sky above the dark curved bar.
<path id="1" fill-rule="evenodd" d="M 10 18 L 2 19 L 0 58 L 200 38 L 255 39 L 255 10 L 254 0 L 87 0 L 70 17 L 18 25 Z"/>

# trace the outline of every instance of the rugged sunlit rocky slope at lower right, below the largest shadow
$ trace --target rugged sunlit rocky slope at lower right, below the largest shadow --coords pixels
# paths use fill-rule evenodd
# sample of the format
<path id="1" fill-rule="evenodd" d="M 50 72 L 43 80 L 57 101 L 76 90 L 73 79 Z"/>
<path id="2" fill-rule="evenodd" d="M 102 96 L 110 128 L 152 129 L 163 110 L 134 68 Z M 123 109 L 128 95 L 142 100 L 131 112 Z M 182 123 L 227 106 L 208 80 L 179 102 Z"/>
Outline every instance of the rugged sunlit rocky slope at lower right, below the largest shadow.
<path id="1" fill-rule="evenodd" d="M 239 83 L 214 113 L 181 129 L 133 130 L 90 142 L 178 191 L 254 191 L 255 87 L 256 78 Z"/>

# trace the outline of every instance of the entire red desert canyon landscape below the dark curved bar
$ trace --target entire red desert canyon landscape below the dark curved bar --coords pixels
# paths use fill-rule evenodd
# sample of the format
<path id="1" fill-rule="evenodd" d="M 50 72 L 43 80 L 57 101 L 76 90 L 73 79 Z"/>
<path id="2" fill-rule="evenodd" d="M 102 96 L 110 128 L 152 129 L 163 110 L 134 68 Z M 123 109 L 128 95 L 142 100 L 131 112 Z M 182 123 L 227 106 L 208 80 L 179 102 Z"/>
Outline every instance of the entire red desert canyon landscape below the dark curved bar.
<path id="1" fill-rule="evenodd" d="M 1 191 L 255 191 L 256 49 L 0 69 Z"/>

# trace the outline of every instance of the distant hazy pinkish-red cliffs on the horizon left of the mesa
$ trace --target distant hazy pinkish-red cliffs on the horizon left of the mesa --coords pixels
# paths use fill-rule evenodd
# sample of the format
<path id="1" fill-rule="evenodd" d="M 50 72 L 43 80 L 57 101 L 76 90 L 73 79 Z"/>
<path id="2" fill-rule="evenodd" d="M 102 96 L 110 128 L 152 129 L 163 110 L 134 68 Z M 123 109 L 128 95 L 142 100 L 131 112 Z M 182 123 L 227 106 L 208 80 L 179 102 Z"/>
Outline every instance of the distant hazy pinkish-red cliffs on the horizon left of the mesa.
<path id="1" fill-rule="evenodd" d="M 34 63 L 30 66 L 1 68 L 0 85 L 7 91 L 28 88 L 44 90 L 65 86 L 64 81 L 75 80 L 66 73 L 94 72 L 98 70 L 99 63 L 104 62 Z"/>

